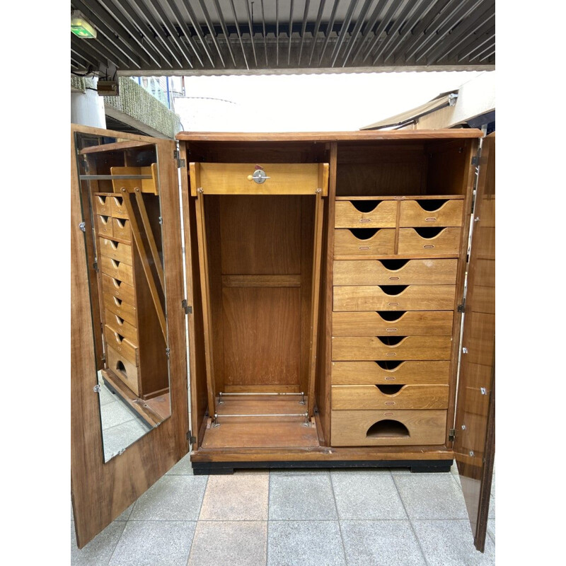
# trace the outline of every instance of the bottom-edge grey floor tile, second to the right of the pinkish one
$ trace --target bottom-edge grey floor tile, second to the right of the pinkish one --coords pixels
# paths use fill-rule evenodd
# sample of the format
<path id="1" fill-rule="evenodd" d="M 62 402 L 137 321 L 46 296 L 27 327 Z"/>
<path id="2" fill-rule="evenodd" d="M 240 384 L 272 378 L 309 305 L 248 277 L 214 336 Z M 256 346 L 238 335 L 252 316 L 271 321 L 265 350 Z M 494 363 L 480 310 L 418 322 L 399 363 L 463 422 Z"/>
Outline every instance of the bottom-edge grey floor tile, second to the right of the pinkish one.
<path id="1" fill-rule="evenodd" d="M 426 566 L 410 521 L 340 521 L 348 566 Z"/>

